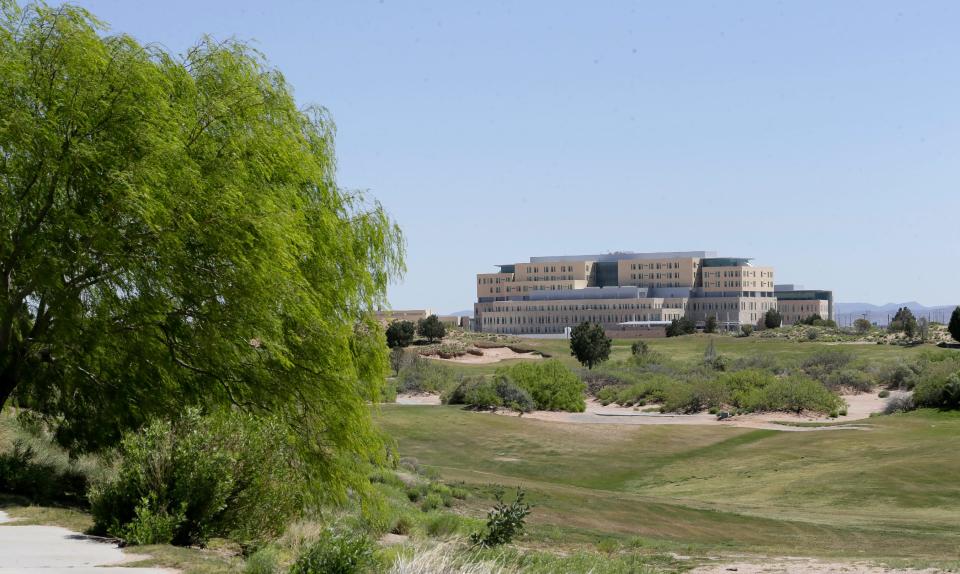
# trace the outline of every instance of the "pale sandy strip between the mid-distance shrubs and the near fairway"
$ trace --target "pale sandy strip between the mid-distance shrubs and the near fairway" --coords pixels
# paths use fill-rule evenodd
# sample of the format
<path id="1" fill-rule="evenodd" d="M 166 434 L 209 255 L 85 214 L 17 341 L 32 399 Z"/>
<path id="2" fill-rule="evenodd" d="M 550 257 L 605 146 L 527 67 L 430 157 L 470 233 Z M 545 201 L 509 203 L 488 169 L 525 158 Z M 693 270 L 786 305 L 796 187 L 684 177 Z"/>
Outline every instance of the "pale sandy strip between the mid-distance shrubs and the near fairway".
<path id="1" fill-rule="evenodd" d="M 698 413 L 695 415 L 680 414 L 660 414 L 656 412 L 643 412 L 633 410 L 633 407 L 618 407 L 614 405 L 603 406 L 593 399 L 587 400 L 587 410 L 582 413 L 565 413 L 554 411 L 534 411 L 526 413 L 523 418 L 565 422 L 565 423 L 589 423 L 589 424 L 622 424 L 622 425 L 708 425 L 708 426 L 730 426 L 743 428 L 771 429 L 779 431 L 809 432 L 823 430 L 854 430 L 868 429 L 866 424 L 857 424 L 857 421 L 863 421 L 870 417 L 871 413 L 882 412 L 887 401 L 897 396 L 897 392 L 891 392 L 890 397 L 881 399 L 876 393 L 861 393 L 859 395 L 843 395 L 842 398 L 847 402 L 847 416 L 837 419 L 831 419 L 825 416 L 804 416 L 792 415 L 788 413 L 757 413 L 749 415 L 740 415 L 723 421 L 718 421 L 716 415 L 709 413 Z M 400 395 L 397 397 L 397 403 L 402 405 L 439 405 L 440 397 L 437 395 Z M 497 414 L 504 416 L 517 416 L 510 411 L 498 411 Z M 789 426 L 777 424 L 777 422 L 788 423 L 852 423 L 827 427 L 804 427 Z"/>

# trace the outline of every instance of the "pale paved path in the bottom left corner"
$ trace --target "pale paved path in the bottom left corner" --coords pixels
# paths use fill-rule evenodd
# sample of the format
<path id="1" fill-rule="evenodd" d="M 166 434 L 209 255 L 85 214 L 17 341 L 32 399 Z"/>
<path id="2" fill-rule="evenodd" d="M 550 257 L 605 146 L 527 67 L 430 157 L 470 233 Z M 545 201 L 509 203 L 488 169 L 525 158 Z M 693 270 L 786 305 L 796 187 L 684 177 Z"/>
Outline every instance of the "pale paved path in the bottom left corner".
<path id="1" fill-rule="evenodd" d="M 0 511 L 0 574 L 54 572 L 62 574 L 174 574 L 163 568 L 111 568 L 142 560 L 124 554 L 116 544 L 102 542 L 58 526 L 15 526 Z M 107 567 L 103 567 L 107 566 Z"/>

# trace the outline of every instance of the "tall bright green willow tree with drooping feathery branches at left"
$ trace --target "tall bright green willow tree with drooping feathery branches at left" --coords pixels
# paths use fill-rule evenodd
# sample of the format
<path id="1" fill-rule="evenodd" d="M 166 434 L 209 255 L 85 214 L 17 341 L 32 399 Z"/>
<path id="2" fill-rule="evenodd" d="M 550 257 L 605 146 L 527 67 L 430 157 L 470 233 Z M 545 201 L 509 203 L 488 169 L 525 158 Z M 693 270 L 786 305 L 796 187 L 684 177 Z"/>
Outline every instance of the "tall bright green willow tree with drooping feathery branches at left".
<path id="1" fill-rule="evenodd" d="M 0 0 L 0 408 L 75 452 L 188 405 L 284 417 L 343 491 L 383 451 L 400 231 L 240 42 L 182 57 Z"/>

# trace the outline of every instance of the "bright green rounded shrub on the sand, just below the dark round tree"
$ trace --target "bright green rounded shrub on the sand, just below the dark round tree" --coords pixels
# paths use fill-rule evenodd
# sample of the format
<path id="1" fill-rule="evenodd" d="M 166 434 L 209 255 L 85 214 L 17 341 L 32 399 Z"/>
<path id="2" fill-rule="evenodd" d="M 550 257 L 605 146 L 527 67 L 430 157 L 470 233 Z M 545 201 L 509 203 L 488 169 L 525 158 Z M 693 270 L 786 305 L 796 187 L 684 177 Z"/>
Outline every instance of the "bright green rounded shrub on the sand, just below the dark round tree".
<path id="1" fill-rule="evenodd" d="M 586 409 L 583 381 L 559 361 L 518 363 L 498 369 L 497 375 L 509 377 L 530 393 L 540 410 L 583 412 Z"/>

